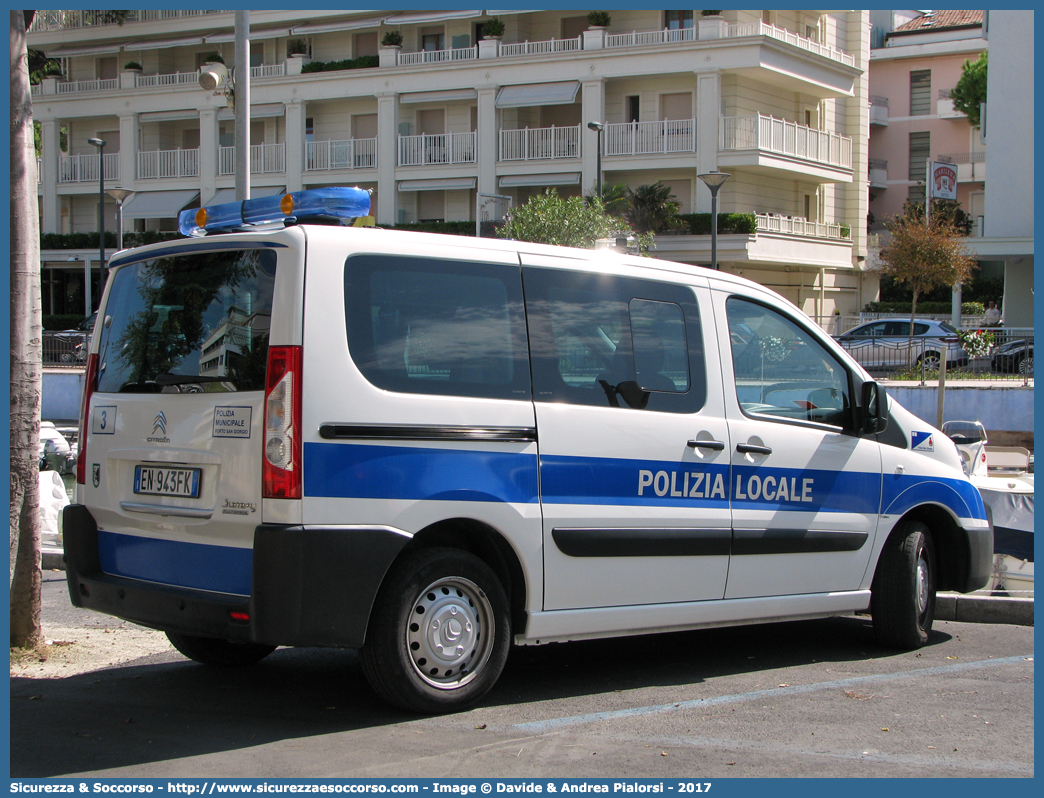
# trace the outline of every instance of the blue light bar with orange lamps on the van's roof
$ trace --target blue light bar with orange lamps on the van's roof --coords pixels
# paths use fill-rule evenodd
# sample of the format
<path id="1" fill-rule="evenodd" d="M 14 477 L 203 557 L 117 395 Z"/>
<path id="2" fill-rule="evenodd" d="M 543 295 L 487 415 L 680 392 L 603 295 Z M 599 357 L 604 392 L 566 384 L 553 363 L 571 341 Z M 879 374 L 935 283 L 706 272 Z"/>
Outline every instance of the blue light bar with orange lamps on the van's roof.
<path id="1" fill-rule="evenodd" d="M 365 189 L 312 188 L 182 211 L 177 217 L 177 229 L 182 235 L 203 236 L 285 222 L 290 216 L 299 222 L 336 220 L 348 225 L 353 219 L 369 215 L 370 191 Z"/>

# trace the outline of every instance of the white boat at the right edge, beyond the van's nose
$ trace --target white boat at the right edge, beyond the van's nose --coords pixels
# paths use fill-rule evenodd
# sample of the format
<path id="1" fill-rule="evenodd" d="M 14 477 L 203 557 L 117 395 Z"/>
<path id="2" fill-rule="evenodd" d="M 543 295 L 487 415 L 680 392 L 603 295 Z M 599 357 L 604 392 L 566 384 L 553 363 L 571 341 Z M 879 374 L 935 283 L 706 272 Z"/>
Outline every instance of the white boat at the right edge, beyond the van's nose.
<path id="1" fill-rule="evenodd" d="M 994 561 L 988 589 L 995 595 L 1034 590 L 1033 455 L 1021 446 L 991 446 L 979 421 L 947 421 L 943 432 L 965 460 L 993 523 Z"/>

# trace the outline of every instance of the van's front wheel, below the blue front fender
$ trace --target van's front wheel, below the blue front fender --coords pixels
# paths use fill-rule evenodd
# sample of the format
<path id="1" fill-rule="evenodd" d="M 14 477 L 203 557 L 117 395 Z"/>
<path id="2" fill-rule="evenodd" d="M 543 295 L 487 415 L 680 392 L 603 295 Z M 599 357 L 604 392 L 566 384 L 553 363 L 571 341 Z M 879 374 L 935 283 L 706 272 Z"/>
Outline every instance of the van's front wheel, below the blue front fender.
<path id="1" fill-rule="evenodd" d="M 928 641 L 935 615 L 935 554 L 923 523 L 901 523 L 884 544 L 870 609 L 881 646 L 920 649 Z"/>

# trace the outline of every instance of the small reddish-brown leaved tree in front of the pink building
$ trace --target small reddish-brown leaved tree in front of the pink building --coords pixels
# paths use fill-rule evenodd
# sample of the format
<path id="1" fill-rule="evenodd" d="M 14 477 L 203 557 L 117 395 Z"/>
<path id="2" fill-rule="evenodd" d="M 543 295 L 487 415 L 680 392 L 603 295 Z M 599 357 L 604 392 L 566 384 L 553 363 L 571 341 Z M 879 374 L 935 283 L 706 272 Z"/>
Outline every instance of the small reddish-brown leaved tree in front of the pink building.
<path id="1" fill-rule="evenodd" d="M 923 213 L 909 213 L 894 216 L 885 227 L 892 240 L 881 250 L 881 271 L 912 292 L 912 335 L 918 299 L 939 286 L 967 282 L 975 261 L 965 247 L 964 236 L 942 219 L 925 224 Z"/>

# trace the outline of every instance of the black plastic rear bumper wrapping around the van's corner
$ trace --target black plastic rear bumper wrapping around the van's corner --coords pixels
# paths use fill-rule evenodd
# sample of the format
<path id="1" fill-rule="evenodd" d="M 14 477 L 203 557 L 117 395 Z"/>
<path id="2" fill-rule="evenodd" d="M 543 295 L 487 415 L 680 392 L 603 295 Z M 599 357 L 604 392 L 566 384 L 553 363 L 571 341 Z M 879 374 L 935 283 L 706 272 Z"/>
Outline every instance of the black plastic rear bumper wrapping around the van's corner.
<path id="1" fill-rule="evenodd" d="M 164 632 L 270 646 L 360 647 L 384 574 L 409 542 L 392 530 L 262 524 L 252 594 L 238 596 L 105 573 L 91 512 L 70 504 L 62 524 L 73 606 Z"/>

